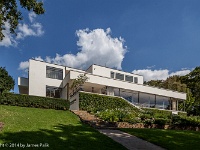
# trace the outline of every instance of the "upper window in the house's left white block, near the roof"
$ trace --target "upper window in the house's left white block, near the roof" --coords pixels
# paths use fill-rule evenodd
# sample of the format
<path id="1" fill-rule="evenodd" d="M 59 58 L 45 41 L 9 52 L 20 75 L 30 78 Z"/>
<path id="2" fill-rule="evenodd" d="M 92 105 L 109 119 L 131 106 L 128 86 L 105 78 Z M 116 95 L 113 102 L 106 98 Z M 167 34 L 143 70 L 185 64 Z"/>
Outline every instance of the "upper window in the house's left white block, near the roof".
<path id="1" fill-rule="evenodd" d="M 46 66 L 46 77 L 52 79 L 63 79 L 63 69 Z"/>

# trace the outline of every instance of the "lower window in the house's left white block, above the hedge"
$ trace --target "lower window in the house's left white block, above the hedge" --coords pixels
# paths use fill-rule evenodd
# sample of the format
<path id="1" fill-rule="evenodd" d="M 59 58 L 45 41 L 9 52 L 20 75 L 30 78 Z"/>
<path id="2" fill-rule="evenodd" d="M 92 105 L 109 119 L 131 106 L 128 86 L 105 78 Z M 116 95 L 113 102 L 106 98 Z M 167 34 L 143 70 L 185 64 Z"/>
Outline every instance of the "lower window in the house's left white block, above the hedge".
<path id="1" fill-rule="evenodd" d="M 61 89 L 54 86 L 46 86 L 46 97 L 60 98 Z"/>

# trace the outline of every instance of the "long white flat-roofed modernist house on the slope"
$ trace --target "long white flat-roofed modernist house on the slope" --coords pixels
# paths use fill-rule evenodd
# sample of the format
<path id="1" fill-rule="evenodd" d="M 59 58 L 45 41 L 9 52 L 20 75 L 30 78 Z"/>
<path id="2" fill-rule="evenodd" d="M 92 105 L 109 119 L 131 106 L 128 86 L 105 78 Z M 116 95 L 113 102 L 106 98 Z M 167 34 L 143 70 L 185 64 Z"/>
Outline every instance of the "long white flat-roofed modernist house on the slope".
<path id="1" fill-rule="evenodd" d="M 137 74 L 99 65 L 83 71 L 33 59 L 28 78 L 18 78 L 19 93 L 69 99 L 70 109 L 79 109 L 78 91 L 70 87 L 81 74 L 89 78 L 81 87 L 84 92 L 122 97 L 139 107 L 177 111 L 178 103 L 186 99 L 186 93 L 143 85 L 143 76 Z"/>

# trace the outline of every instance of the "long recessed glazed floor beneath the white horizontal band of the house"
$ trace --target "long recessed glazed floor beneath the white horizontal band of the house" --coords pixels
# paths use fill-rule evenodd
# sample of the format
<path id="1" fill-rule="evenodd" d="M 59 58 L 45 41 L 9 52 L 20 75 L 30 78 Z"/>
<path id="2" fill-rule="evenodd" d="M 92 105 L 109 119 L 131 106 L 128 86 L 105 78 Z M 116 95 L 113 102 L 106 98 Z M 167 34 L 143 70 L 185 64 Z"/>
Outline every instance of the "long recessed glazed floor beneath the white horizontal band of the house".
<path id="1" fill-rule="evenodd" d="M 77 90 L 71 91 L 69 98 L 73 97 L 78 91 L 118 96 L 139 107 L 173 111 L 184 111 L 185 107 L 184 100 L 181 99 L 100 85 L 87 86 L 86 84 Z"/>

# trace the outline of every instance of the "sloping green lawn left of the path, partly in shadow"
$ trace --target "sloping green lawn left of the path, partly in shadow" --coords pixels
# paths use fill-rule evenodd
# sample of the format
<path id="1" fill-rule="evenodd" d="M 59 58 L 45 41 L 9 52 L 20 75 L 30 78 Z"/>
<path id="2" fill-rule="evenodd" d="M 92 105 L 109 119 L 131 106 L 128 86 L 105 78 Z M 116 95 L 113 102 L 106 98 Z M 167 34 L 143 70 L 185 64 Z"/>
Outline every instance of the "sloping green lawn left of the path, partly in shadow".
<path id="1" fill-rule="evenodd" d="M 0 105 L 0 149 L 22 144 L 48 146 L 48 149 L 107 150 L 125 149 L 98 131 L 84 125 L 69 111 Z M 46 143 L 46 144 L 45 144 Z M 10 148 L 6 148 L 10 149 Z M 34 149 L 34 148 L 29 148 Z"/>

